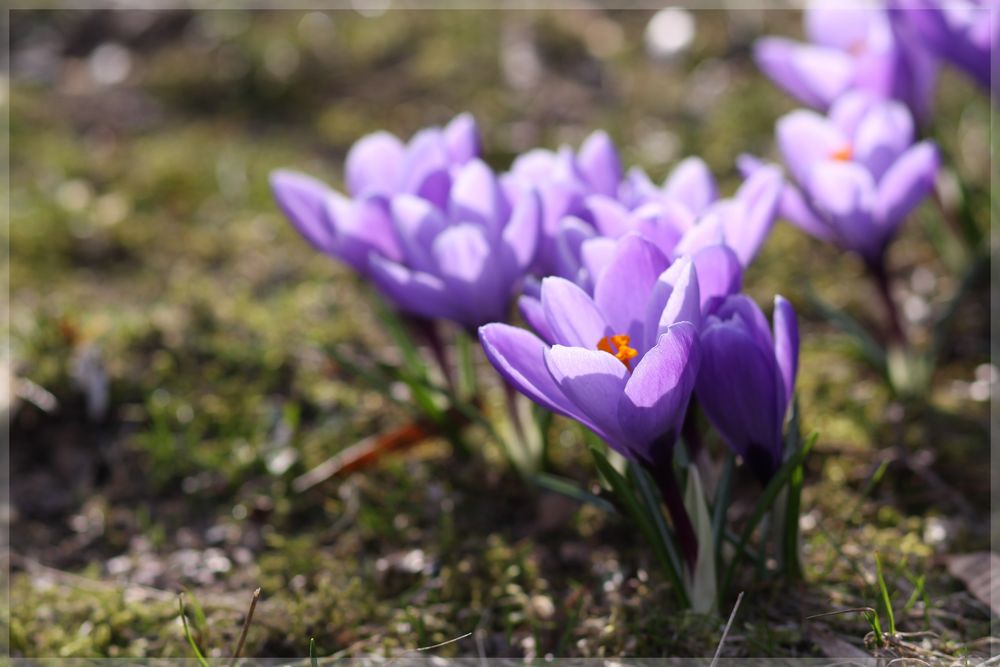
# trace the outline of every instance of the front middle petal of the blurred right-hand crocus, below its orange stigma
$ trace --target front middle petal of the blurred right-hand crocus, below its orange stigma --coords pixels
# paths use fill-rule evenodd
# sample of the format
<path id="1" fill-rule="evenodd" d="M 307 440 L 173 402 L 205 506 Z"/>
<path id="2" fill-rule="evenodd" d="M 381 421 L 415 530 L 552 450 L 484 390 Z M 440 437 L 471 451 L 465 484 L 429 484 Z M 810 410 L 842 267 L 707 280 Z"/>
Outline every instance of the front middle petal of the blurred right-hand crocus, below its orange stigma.
<path id="1" fill-rule="evenodd" d="M 869 261 L 877 259 L 885 237 L 872 223 L 876 195 L 868 170 L 851 162 L 821 162 L 807 188 L 813 208 L 834 229 L 838 242 Z"/>

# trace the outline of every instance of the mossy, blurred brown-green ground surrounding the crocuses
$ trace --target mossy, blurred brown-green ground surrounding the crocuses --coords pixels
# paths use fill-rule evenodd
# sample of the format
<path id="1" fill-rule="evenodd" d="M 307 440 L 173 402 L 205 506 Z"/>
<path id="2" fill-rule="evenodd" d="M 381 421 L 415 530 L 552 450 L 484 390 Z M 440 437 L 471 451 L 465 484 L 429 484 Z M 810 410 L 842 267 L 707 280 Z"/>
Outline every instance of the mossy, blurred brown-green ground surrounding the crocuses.
<path id="1" fill-rule="evenodd" d="M 467 632 L 441 651 L 714 650 L 717 621 L 671 608 L 622 522 L 526 488 L 489 444 L 456 469 L 429 439 L 292 489 L 407 416 L 323 354 L 393 351 L 366 288 L 296 235 L 267 176 L 294 167 L 340 187 L 365 133 L 408 137 L 470 111 L 497 169 L 604 128 L 654 180 L 697 154 L 730 194 L 737 155 L 773 156 L 774 122 L 795 108 L 751 45 L 800 38 L 798 12 L 369 4 L 10 20 L 15 655 L 190 656 L 180 590 L 200 610 L 199 644 L 227 655 L 258 586 L 245 654 L 259 657 L 305 655 L 310 637 L 324 655 L 391 654 Z M 989 102 L 950 70 L 941 79 L 934 137 L 952 175 L 988 192 Z M 977 215 L 988 233 L 988 208 Z M 932 243 L 937 217 L 925 204 L 890 256 L 918 328 L 962 280 L 961 257 L 949 265 Z M 806 299 L 811 286 L 876 326 L 853 257 L 782 222 L 745 283 L 800 312 L 804 427 L 821 436 L 802 523 L 810 585 L 747 582 L 756 611 L 727 652 L 860 647 L 860 617 L 802 619 L 873 604 L 876 549 L 908 627 L 945 637 L 941 650 L 986 637 L 989 610 L 942 561 L 988 544 L 985 276 L 919 410 L 894 402 Z M 579 433 L 556 428 L 557 461 L 587 479 Z"/>

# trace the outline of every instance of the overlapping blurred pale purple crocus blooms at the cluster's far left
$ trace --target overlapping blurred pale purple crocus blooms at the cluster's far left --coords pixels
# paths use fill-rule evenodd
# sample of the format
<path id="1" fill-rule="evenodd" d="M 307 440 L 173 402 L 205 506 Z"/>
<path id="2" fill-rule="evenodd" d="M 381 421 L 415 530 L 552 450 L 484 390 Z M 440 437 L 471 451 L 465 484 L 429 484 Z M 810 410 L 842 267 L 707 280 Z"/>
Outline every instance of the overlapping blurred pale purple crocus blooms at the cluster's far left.
<path id="1" fill-rule="evenodd" d="M 388 133 L 359 141 L 346 167 L 353 199 L 295 172 L 275 172 L 271 185 L 310 243 L 371 278 L 400 310 L 475 329 L 506 318 L 540 227 L 537 196 L 512 204 L 478 150 L 463 115 L 406 147 Z"/>

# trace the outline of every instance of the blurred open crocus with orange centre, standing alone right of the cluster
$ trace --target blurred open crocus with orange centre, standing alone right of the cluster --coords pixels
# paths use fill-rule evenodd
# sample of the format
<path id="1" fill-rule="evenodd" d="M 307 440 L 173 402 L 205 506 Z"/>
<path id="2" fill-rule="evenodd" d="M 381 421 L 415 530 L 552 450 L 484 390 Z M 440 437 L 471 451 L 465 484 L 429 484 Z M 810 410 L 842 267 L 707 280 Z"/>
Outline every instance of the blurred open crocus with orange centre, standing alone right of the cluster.
<path id="1" fill-rule="evenodd" d="M 783 116 L 776 134 L 795 181 L 782 194 L 781 214 L 881 266 L 899 225 L 933 189 L 938 169 L 934 144 L 913 144 L 906 107 L 853 92 L 827 117 L 806 110 Z M 740 166 L 753 171 L 759 163 L 743 158 Z"/>

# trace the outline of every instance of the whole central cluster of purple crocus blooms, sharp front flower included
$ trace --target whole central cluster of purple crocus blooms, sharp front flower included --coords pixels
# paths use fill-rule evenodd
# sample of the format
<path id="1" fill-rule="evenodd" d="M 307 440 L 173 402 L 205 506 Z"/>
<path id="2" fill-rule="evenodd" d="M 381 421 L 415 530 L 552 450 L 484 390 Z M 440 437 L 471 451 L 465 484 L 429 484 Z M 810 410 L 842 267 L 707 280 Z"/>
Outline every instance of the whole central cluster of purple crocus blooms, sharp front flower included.
<path id="1" fill-rule="evenodd" d="M 386 132 L 361 139 L 347 157 L 350 196 L 290 171 L 271 184 L 316 248 L 404 312 L 478 328 L 511 385 L 623 455 L 667 467 L 697 386 L 734 451 L 761 479 L 773 474 L 795 318 L 779 300 L 772 334 L 739 292 L 775 220 L 780 171 L 760 167 L 720 198 L 699 158 L 658 186 L 626 173 L 603 132 L 579 150 L 529 151 L 499 175 L 479 155 L 462 115 L 405 145 Z M 534 333 L 506 323 L 519 294 Z M 716 356 L 746 372 L 727 376 Z"/>

